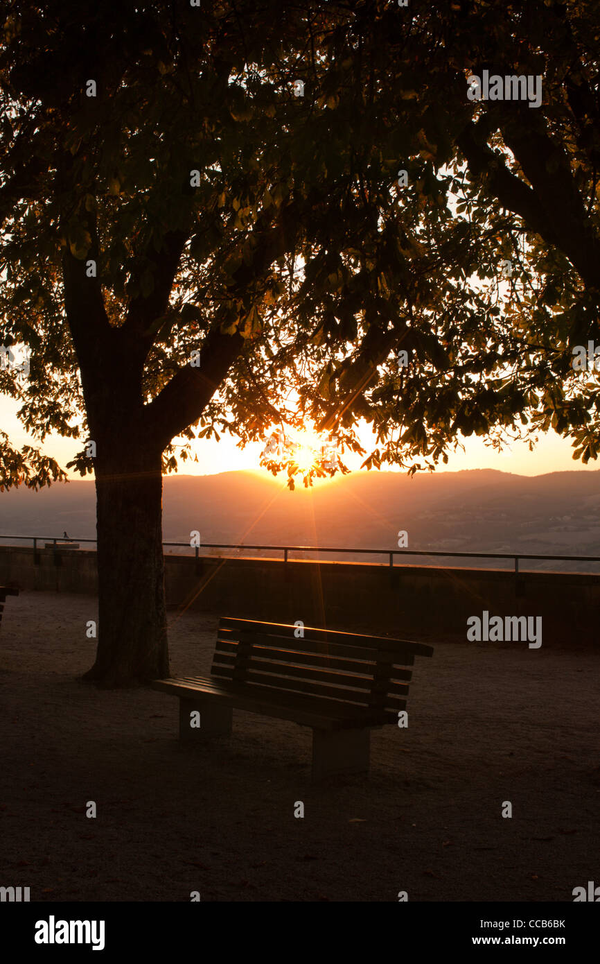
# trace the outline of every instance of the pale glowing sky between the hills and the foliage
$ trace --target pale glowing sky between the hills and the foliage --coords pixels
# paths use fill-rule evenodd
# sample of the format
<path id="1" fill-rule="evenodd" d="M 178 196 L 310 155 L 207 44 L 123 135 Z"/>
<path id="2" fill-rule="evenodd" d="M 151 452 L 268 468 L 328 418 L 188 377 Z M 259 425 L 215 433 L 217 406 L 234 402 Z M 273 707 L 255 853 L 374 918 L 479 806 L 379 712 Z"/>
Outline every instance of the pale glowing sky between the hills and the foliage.
<path id="1" fill-rule="evenodd" d="M 73 442 L 58 435 L 48 436 L 39 443 L 32 439 L 16 417 L 19 405 L 13 399 L 0 395 L 0 428 L 7 432 L 13 445 L 21 447 L 28 443 L 37 445 L 46 454 L 54 457 L 62 468 L 83 447 L 82 442 Z M 369 427 L 363 423 L 359 435 L 363 447 L 369 450 L 370 442 L 375 442 Z M 574 461 L 571 442 L 561 439 L 556 433 L 540 436 L 533 452 L 529 451 L 527 442 L 513 442 L 510 449 L 499 454 L 494 449 L 484 445 L 482 439 L 471 437 L 463 440 L 464 452 L 458 450 L 449 453 L 447 466 L 441 466 L 436 471 L 460 471 L 462 469 L 498 469 L 517 475 L 543 475 L 547 472 L 595 470 L 596 462 L 582 465 L 581 460 Z M 214 475 L 218 472 L 235 471 L 236 469 L 260 469 L 260 452 L 264 446 L 261 443 L 247 445 L 245 449 L 236 446 L 236 442 L 228 435 L 221 437 L 220 442 L 200 440 L 193 442 L 197 455 L 197 463 L 188 460 L 180 465 L 179 472 L 186 475 Z M 344 456 L 344 460 L 352 471 L 359 470 L 362 458 L 352 453 Z M 393 470 L 386 466 L 385 470 Z M 365 470 L 365 469 L 363 469 Z M 399 469 L 396 469 L 399 470 Z M 70 473 L 71 478 L 81 478 L 76 472 Z M 281 475 L 281 478 L 284 476 Z"/>

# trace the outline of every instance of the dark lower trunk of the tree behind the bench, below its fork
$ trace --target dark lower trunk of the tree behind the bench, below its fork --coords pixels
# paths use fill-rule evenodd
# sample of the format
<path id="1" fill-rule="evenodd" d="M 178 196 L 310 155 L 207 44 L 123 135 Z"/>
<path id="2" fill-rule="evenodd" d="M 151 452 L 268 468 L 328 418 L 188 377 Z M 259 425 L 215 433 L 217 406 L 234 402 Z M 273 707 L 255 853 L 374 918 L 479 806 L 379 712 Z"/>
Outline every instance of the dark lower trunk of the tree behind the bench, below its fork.
<path id="1" fill-rule="evenodd" d="M 94 460 L 98 647 L 84 679 L 104 686 L 169 676 L 161 454 L 135 436 L 118 449 Z"/>

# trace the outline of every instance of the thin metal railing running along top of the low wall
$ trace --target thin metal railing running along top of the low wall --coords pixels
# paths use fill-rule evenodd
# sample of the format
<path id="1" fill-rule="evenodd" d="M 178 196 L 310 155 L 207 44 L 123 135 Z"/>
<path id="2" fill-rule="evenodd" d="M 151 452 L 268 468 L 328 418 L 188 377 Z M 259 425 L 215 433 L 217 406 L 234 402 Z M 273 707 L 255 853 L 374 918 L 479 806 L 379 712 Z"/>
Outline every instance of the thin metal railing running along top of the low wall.
<path id="1" fill-rule="evenodd" d="M 34 554 L 38 556 L 38 543 L 51 542 L 52 551 L 56 560 L 58 550 L 68 547 L 69 543 L 97 543 L 96 539 L 65 539 L 55 536 L 10 536 L 0 535 L 0 540 L 17 539 L 21 541 L 29 540 L 34 544 Z M 59 544 L 63 544 L 60 546 Z M 253 546 L 248 543 L 203 543 L 200 547 L 191 546 L 189 542 L 164 542 L 163 546 L 178 546 L 186 549 L 195 549 L 196 559 L 199 558 L 200 549 L 261 549 L 276 552 L 283 552 L 283 561 L 288 562 L 289 553 L 301 552 L 347 552 L 355 555 L 383 555 L 389 560 L 389 568 L 394 568 L 394 556 L 403 555 L 426 555 L 441 556 L 445 558 L 462 559 L 511 559 L 514 566 L 514 575 L 518 576 L 520 559 L 535 559 L 545 562 L 600 562 L 598 555 L 540 555 L 530 552 L 452 552 L 443 549 L 349 549 L 347 547 L 326 547 L 326 546 Z M 597 575 L 597 574 L 589 574 Z"/>

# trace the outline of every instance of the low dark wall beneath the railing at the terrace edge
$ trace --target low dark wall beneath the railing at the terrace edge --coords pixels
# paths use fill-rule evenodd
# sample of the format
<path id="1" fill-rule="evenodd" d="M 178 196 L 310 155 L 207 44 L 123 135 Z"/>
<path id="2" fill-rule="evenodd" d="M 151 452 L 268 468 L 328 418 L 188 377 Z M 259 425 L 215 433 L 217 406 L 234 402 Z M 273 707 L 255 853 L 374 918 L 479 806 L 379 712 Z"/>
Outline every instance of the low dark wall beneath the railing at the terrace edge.
<path id="1" fill-rule="evenodd" d="M 466 620 L 541 616 L 543 643 L 598 645 L 600 576 L 283 562 L 167 555 L 170 608 L 271 622 L 466 639 Z M 0 547 L 0 584 L 22 589 L 97 591 L 96 556 L 83 549 Z"/>

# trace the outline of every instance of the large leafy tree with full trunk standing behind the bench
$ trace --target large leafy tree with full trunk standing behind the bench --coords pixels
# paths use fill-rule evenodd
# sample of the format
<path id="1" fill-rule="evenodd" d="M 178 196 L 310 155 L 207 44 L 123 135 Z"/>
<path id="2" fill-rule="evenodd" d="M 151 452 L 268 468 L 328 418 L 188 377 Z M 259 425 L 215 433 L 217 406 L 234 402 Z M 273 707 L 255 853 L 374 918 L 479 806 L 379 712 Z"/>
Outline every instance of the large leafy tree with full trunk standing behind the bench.
<path id="1" fill-rule="evenodd" d="M 30 345 L 31 370 L 28 386 L 0 371 L 0 389 L 22 399 L 40 441 L 53 429 L 86 440 L 75 464 L 97 493 L 89 679 L 168 675 L 162 471 L 196 425 L 244 443 L 309 420 L 338 451 L 362 451 L 363 416 L 378 431 L 365 465 L 411 471 L 447 460 L 460 433 L 521 430 L 528 412 L 543 426 L 548 397 L 559 427 L 581 430 L 590 396 L 578 388 L 560 408 L 561 345 L 536 367 L 545 308 L 527 287 L 562 271 L 543 304 L 589 310 L 579 267 L 499 198 L 486 165 L 504 164 L 519 199 L 535 186 L 498 126 L 485 146 L 485 111 L 466 97 L 474 36 L 483 57 L 512 27 L 461 6 L 466 26 L 441 4 L 13 5 L 0 335 Z M 501 261 L 524 225 L 519 256 L 535 274 L 511 281 L 507 301 Z M 286 461 L 293 486 L 293 455 L 266 459 Z M 6 437 L 0 466 L 4 486 L 64 477 Z M 339 455 L 305 482 L 337 469 Z"/>

